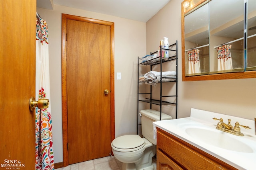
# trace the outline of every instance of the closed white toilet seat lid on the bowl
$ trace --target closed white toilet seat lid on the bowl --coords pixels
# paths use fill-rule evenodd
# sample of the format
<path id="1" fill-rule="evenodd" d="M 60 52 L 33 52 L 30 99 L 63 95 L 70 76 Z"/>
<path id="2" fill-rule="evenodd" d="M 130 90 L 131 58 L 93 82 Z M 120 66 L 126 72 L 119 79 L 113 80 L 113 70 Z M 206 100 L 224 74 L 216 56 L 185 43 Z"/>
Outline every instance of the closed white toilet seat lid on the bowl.
<path id="1" fill-rule="evenodd" d="M 114 139 L 111 145 L 119 152 L 132 152 L 143 148 L 145 141 L 139 135 L 124 135 Z"/>

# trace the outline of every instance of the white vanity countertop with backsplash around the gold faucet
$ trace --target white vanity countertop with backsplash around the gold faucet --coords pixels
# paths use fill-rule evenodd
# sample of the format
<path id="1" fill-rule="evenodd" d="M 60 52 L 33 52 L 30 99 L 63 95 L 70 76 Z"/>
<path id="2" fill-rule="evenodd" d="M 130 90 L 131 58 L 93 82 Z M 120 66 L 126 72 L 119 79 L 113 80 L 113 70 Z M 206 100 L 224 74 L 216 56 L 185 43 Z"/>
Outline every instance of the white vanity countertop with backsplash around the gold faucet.
<path id="1" fill-rule="evenodd" d="M 228 119 L 231 119 L 231 125 L 234 126 L 235 122 L 238 121 L 240 125 L 246 125 L 252 129 L 244 129 L 241 127 L 241 132 L 244 133 L 244 136 L 236 136 L 230 133 L 226 133 L 216 129 L 216 125 L 219 121 L 215 121 L 212 118 L 216 117 L 220 119 L 222 117 L 224 123 L 228 123 Z M 234 117 L 230 115 L 224 115 L 220 113 L 214 113 L 210 111 L 203 111 L 198 109 L 191 109 L 190 117 L 181 118 L 181 119 L 172 119 L 172 120 L 163 120 L 156 121 L 153 123 L 155 127 L 158 127 L 180 139 L 194 145 L 195 147 L 215 156 L 216 158 L 234 166 L 239 170 L 256 170 L 256 135 L 255 135 L 255 125 L 253 120 L 244 119 L 240 117 Z M 197 137 L 192 137 L 186 132 L 186 128 L 198 127 L 200 129 L 206 129 L 210 134 L 213 133 L 222 133 L 230 141 L 217 141 L 216 143 L 212 140 L 209 143 L 206 143 Z M 199 137 L 201 134 L 198 134 Z M 206 135 L 206 134 L 202 134 Z M 218 142 L 227 143 L 229 149 L 224 149 L 218 147 Z M 230 145 L 229 145 L 230 142 Z M 245 144 L 245 149 L 241 147 L 236 147 L 234 145 L 234 150 L 232 150 L 233 143 L 238 142 Z M 211 144 L 212 143 L 212 144 Z M 214 146 L 215 145 L 215 146 Z M 238 145 L 239 146 L 239 145 Z M 247 147 L 248 146 L 248 147 Z M 248 149 L 246 151 L 246 149 Z"/>

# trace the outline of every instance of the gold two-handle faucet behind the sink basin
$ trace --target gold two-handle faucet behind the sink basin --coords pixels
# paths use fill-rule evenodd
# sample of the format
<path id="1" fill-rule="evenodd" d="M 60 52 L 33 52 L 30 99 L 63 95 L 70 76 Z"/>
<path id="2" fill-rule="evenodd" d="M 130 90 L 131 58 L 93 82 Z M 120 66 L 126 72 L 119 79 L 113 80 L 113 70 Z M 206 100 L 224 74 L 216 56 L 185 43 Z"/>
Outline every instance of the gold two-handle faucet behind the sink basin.
<path id="1" fill-rule="evenodd" d="M 231 123 L 230 123 L 230 122 L 231 122 L 230 119 L 228 119 L 228 124 L 224 123 L 222 118 L 217 119 L 217 118 L 214 117 L 214 118 L 212 118 L 212 119 L 219 121 L 219 123 L 218 123 L 217 126 L 216 126 L 216 129 L 221 130 L 221 131 L 224 131 L 224 132 L 231 133 L 231 134 L 233 134 L 233 135 L 244 136 L 244 134 L 241 133 L 241 131 L 240 131 L 240 126 L 241 126 L 241 127 L 244 127 L 245 129 L 252 129 L 252 128 L 250 128 L 249 126 L 240 125 L 240 124 L 238 123 L 238 121 L 235 123 L 235 126 L 234 126 L 234 128 L 233 128 L 233 126 L 232 126 Z"/>

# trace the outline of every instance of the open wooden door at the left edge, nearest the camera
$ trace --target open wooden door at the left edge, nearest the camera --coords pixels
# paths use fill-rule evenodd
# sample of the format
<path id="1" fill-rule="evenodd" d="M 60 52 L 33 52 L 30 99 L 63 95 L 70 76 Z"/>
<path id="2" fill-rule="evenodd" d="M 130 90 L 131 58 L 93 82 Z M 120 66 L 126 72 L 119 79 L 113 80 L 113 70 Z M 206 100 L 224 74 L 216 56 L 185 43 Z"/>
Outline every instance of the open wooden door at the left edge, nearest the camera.
<path id="1" fill-rule="evenodd" d="M 36 0 L 0 1 L 0 170 L 35 169 Z"/>

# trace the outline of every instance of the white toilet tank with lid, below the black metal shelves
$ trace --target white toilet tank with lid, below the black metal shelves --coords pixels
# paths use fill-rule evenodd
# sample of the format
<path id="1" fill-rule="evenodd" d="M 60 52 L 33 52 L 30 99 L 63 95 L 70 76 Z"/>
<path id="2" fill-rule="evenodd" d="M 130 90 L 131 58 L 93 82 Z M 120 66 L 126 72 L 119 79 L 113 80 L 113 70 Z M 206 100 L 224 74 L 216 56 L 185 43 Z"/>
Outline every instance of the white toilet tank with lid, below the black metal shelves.
<path id="1" fill-rule="evenodd" d="M 141 129 L 142 135 L 148 139 L 152 144 L 156 145 L 156 139 L 154 139 L 154 127 L 153 122 L 160 120 L 160 112 L 153 109 L 146 109 L 140 111 L 141 117 Z M 170 120 L 172 116 L 162 113 L 161 120 Z"/>

